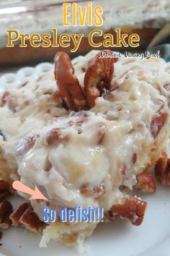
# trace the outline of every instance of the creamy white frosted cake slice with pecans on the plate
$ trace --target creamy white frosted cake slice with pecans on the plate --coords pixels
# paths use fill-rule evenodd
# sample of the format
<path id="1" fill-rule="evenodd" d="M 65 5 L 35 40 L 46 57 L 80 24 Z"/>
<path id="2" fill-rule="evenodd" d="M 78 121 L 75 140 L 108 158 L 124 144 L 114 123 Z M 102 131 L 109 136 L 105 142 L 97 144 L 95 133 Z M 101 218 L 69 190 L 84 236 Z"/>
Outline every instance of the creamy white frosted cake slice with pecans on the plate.
<path id="1" fill-rule="evenodd" d="M 59 216 L 44 226 L 45 205 L 57 213 L 63 207 L 100 207 L 104 221 L 125 218 L 138 226 L 147 202 L 134 189 L 155 192 L 155 166 L 158 179 L 170 183 L 170 64 L 103 54 L 91 51 L 71 61 L 59 52 L 46 72 L 37 72 L 39 65 L 28 78 L 28 70 L 21 69 L 13 86 L 1 83 L 1 158 L 12 180 L 37 186 L 48 198 L 31 200 L 10 219 L 14 226 L 43 229 L 41 246 L 50 239 L 81 246 L 97 227 L 62 223 Z"/>

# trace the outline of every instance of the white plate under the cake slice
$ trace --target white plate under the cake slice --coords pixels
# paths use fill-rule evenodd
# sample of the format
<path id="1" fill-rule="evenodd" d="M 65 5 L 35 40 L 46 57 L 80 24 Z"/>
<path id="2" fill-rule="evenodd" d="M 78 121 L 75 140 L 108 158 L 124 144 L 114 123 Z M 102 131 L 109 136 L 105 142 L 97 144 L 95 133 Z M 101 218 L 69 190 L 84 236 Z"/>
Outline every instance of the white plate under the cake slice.
<path id="1" fill-rule="evenodd" d="M 169 256 L 170 200 L 169 187 L 158 184 L 154 195 L 143 196 L 148 202 L 146 217 L 141 226 L 124 220 L 99 224 L 94 234 L 86 239 L 89 252 L 84 255 L 103 256 Z M 15 199 L 15 205 L 21 199 Z M 50 242 L 48 248 L 39 248 L 40 235 L 23 228 L 4 231 L 0 252 L 6 256 L 75 256 L 75 249 Z"/>

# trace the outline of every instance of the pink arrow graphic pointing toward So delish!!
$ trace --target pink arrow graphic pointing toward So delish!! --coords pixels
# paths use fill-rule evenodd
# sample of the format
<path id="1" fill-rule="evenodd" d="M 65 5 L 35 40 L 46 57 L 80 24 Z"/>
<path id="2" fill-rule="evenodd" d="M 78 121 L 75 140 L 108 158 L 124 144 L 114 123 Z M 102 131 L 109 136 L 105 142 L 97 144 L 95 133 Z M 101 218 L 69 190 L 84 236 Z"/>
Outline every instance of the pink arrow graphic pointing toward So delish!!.
<path id="1" fill-rule="evenodd" d="M 43 200 L 48 200 L 40 190 L 35 186 L 35 190 L 30 189 L 30 187 L 27 187 L 26 185 L 22 184 L 22 182 L 15 181 L 12 183 L 12 187 L 16 190 L 19 190 L 21 192 L 27 193 L 29 195 L 32 195 L 29 199 L 43 199 Z"/>

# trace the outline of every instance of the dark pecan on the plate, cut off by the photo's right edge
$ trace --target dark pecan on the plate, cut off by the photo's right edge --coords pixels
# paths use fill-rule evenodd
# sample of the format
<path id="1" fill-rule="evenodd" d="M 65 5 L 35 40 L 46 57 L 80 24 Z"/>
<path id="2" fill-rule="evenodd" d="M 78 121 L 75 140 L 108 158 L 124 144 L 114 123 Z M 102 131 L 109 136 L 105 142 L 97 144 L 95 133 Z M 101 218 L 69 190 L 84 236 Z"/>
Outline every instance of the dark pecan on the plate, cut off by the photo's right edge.
<path id="1" fill-rule="evenodd" d="M 170 158 L 167 153 L 163 153 L 155 166 L 155 174 L 161 184 L 170 185 Z"/>

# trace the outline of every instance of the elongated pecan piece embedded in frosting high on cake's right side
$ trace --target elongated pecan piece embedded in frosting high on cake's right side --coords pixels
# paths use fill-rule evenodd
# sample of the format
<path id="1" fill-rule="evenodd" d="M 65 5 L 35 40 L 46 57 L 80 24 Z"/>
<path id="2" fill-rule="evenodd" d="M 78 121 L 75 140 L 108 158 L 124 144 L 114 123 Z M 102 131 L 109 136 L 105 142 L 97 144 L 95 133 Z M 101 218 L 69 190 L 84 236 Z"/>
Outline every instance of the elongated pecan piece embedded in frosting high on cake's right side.
<path id="1" fill-rule="evenodd" d="M 162 127 L 164 127 L 164 124 L 166 123 L 168 114 L 160 110 L 158 111 L 151 121 L 151 134 L 153 135 L 153 138 L 155 139 L 159 132 L 161 132 Z"/>

